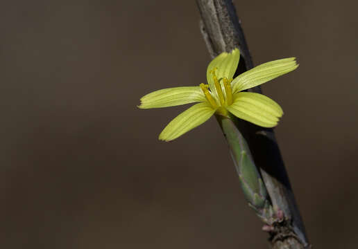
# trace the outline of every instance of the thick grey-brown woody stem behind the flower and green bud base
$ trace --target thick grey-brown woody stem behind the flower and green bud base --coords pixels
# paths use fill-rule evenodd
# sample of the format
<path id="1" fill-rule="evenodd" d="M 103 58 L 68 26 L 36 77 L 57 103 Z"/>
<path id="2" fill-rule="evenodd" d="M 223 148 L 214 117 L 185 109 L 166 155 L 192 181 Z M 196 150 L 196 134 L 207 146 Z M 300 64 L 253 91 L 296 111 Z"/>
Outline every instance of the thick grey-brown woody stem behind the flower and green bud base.
<path id="1" fill-rule="evenodd" d="M 239 47 L 241 59 L 237 74 L 253 68 L 232 0 L 196 0 L 201 12 L 201 32 L 212 58 Z M 261 93 L 259 86 L 248 91 Z M 305 228 L 296 205 L 289 177 L 284 167 L 273 129 L 257 127 L 243 120 L 235 120 L 236 129 L 248 142 L 253 160 L 259 168 L 275 216 L 283 215 L 281 222 L 269 229 L 273 248 L 309 248 Z M 230 129 L 235 129 L 234 127 Z"/>

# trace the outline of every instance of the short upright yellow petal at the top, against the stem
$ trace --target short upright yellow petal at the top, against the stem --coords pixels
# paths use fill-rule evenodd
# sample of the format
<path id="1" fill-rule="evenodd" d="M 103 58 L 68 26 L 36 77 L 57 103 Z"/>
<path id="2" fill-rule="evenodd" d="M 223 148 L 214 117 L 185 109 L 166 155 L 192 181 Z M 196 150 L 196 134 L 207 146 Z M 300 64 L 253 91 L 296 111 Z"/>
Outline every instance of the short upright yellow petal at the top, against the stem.
<path id="1" fill-rule="evenodd" d="M 210 86 L 210 91 L 216 95 L 216 89 L 214 80 L 212 78 L 212 71 L 213 68 L 218 68 L 216 70 L 216 77 L 220 80 L 222 77 L 227 77 L 229 80 L 234 77 L 236 72 L 237 65 L 239 64 L 240 59 L 240 51 L 239 49 L 235 48 L 231 51 L 231 53 L 221 53 L 220 55 L 216 56 L 212 62 L 210 62 L 209 66 L 207 66 L 206 77 L 207 83 Z"/>

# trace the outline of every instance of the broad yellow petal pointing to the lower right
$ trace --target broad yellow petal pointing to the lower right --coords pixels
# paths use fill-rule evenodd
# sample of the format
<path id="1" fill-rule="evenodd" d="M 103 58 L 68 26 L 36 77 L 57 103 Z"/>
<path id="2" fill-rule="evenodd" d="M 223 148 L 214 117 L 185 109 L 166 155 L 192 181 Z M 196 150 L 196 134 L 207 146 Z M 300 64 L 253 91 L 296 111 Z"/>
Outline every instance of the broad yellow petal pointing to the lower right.
<path id="1" fill-rule="evenodd" d="M 278 103 L 259 93 L 237 93 L 234 103 L 227 107 L 237 118 L 261 127 L 274 127 L 283 111 Z"/>

